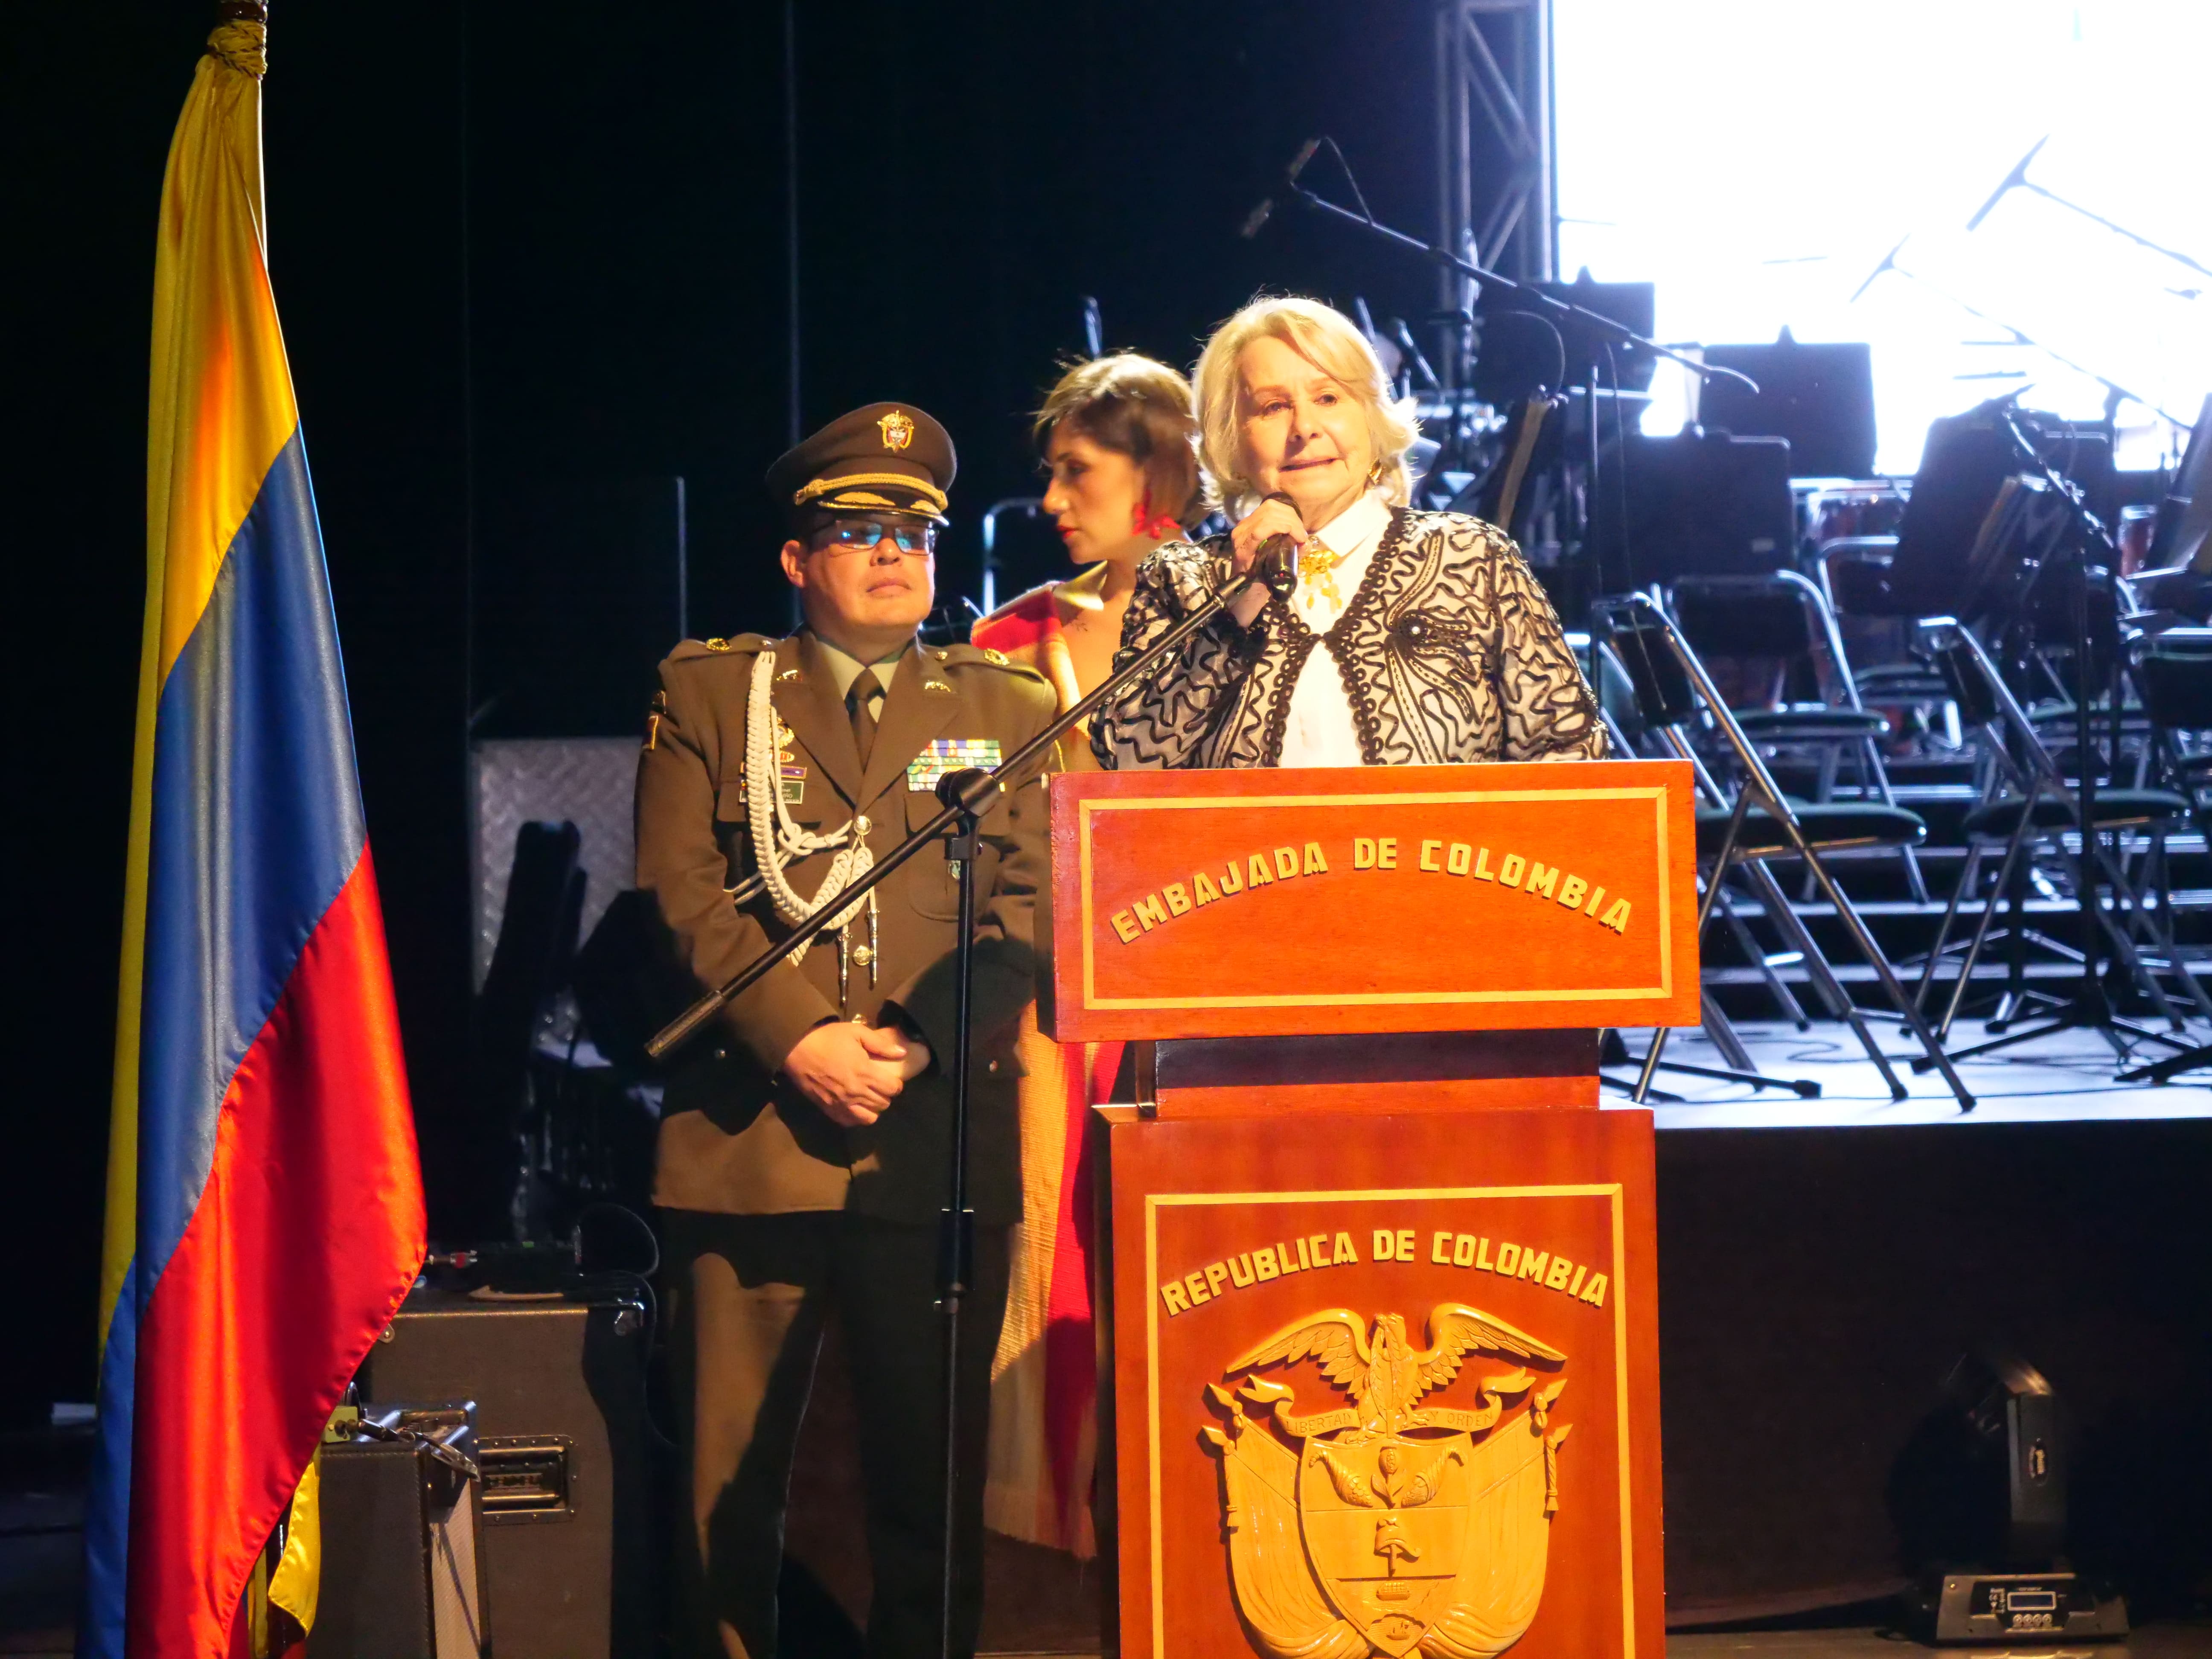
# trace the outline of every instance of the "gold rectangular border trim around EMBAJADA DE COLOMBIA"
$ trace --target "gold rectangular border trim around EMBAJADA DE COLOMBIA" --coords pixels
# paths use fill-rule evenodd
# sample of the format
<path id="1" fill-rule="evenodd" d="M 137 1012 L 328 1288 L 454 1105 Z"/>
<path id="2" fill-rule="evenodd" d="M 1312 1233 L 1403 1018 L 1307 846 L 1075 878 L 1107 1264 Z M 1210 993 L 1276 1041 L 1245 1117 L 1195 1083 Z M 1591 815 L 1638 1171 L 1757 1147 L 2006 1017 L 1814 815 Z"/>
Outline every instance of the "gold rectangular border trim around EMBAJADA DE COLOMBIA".
<path id="1" fill-rule="evenodd" d="M 1079 805 L 1077 856 L 1082 860 L 1082 940 L 1084 940 L 1084 1006 L 1099 1011 L 1130 1009 L 1343 1009 L 1343 1006 L 1467 1006 L 1480 1002 L 1632 1002 L 1674 995 L 1674 951 L 1659 951 L 1659 984 L 1639 987 L 1584 987 L 1575 991 L 1347 991 L 1310 995 L 1232 995 L 1232 998 L 1099 998 L 1097 975 L 1097 916 L 1093 909 L 1091 880 L 1091 821 L 1099 812 L 1223 812 L 1254 807 L 1449 807 L 1475 803 L 1520 803 L 1520 801 L 1650 801 L 1657 823 L 1652 845 L 1652 867 L 1659 889 L 1659 938 L 1672 938 L 1672 883 L 1668 880 L 1668 792 L 1659 785 L 1624 785 L 1601 790 L 1442 790 L 1431 794 L 1259 794 L 1234 799 L 1124 799 L 1084 801 Z"/>

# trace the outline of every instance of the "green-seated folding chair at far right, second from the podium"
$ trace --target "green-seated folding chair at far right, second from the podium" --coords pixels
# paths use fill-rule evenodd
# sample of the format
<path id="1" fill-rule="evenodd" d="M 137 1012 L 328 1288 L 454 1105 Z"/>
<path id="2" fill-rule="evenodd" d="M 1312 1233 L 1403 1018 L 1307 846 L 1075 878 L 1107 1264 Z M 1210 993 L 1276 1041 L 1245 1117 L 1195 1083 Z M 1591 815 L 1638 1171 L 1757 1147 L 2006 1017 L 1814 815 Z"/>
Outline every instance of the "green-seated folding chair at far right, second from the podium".
<path id="1" fill-rule="evenodd" d="M 1991 887 L 1989 900 L 1980 907 L 1973 936 L 1960 958 L 1958 978 L 1951 984 L 1951 998 L 1944 1006 L 1938 1035 L 1947 1035 L 1953 1020 L 1958 1020 L 1960 1006 L 1966 998 L 1966 984 L 1973 978 L 1973 967 L 1980 960 L 1982 949 L 1993 938 L 1991 922 L 1997 914 L 2000 894 L 2011 894 L 2013 909 L 2011 927 L 2006 929 L 2013 940 L 2013 975 L 2006 987 L 2004 1004 L 2000 1006 L 2000 1024 L 2008 1024 L 2013 1013 L 2026 1002 L 2064 1002 L 2062 998 L 2051 998 L 2042 991 L 2028 991 L 2024 980 L 2024 951 L 2028 942 L 2039 942 L 2046 949 L 2077 962 L 2084 960 L 2073 947 L 2059 945 L 2046 936 L 2035 936 L 2024 927 L 2024 914 L 2020 907 L 2022 880 L 2017 876 L 2026 874 L 2022 858 L 2033 858 L 2037 854 L 2051 858 L 2062 878 L 2073 885 L 2075 896 L 2086 891 L 2081 880 L 2084 860 L 2093 858 L 2099 887 L 2108 887 L 2112 891 L 2110 911 L 2101 900 L 2093 911 L 2095 927 L 2106 940 L 2110 940 L 2112 956 L 2174 1031 L 2183 1029 L 2183 1020 L 2172 998 L 2168 998 L 2161 975 L 2179 980 L 2188 1000 L 2197 1004 L 2197 1011 L 2212 1020 L 2212 998 L 2205 995 L 2197 975 L 2190 973 L 2179 960 L 2179 947 L 2172 933 L 2170 898 L 2152 905 L 2154 887 L 2163 883 L 2166 891 L 2170 891 L 2166 874 L 2166 832 L 2174 823 L 2190 816 L 2190 801 L 2170 790 L 2097 790 L 2095 830 L 2099 834 L 2112 832 L 2117 838 L 2135 830 L 2148 838 L 2148 856 L 2143 858 L 2141 880 L 2128 874 L 2126 854 L 2119 858 L 2106 854 L 2099 834 L 2079 836 L 2081 849 L 2079 854 L 2070 854 L 2066 849 L 2066 834 L 2079 834 L 2081 830 L 2081 799 L 2066 781 L 2057 759 L 2042 743 L 2037 721 L 2020 706 L 2020 699 L 2013 695 L 2013 688 L 2006 686 L 1997 664 L 1966 626 L 1951 617 L 1931 617 L 1927 626 L 1938 639 L 1938 664 L 1951 681 L 1953 699 L 1958 701 L 1962 714 L 1984 732 L 1986 752 L 1995 761 L 1995 783 L 1991 796 L 1966 814 L 1966 869 L 1960 874 L 1958 889 L 1951 894 L 1951 902 L 1936 931 L 1936 945 L 1929 949 L 1927 967 L 1920 973 L 1918 991 L 1922 1006 L 1936 987 L 1936 975 L 1944 956 L 1953 949 L 1949 947 L 1951 927 L 1969 896 L 1975 894 L 1982 863 L 1993 849 L 2002 849 L 1997 878 Z M 2084 922 L 2084 927 L 2088 927 L 2088 922 Z M 2148 947 L 2150 953 L 2146 953 L 2139 942 Z M 1964 1048 L 1960 1053 L 1989 1053 L 1997 1046 L 2044 1035 L 2048 1029 L 2055 1026 L 2008 1033 L 1997 1042 Z M 2174 1042 L 2166 1033 L 2119 1020 L 2112 1022 L 2112 1029 L 2137 1040 Z M 2106 1035 L 2112 1040 L 2115 1051 L 2126 1053 L 2124 1044 L 2119 1044 L 2112 1033 Z"/>

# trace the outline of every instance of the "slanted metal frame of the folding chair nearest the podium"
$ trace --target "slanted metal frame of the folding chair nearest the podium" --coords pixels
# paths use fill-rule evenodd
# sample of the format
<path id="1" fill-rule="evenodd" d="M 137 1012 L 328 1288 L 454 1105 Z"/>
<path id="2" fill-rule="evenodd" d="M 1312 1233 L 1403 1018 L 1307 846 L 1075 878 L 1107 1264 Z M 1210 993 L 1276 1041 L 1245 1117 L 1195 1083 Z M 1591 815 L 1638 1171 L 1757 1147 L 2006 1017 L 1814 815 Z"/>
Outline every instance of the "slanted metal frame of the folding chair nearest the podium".
<path id="1" fill-rule="evenodd" d="M 1867 1051 L 1867 1057 L 1882 1075 L 1882 1082 L 1889 1084 L 1891 1097 L 1905 1099 L 1907 1088 L 1898 1077 L 1896 1068 L 1889 1064 L 1889 1055 L 1882 1053 L 1882 1046 L 1880 1042 L 1876 1042 L 1874 1031 L 1867 1024 L 1865 1015 L 1851 1002 L 1849 993 L 1836 980 L 1836 973 L 1829 967 L 1827 958 L 1820 953 L 1820 947 L 1814 940 L 1812 929 L 1807 929 L 1803 918 L 1790 907 L 1790 900 L 1781 891 L 1781 883 L 1776 883 L 1774 872 L 1767 869 L 1767 860 L 1776 856 L 1803 858 L 1814 880 L 1818 883 L 1820 891 L 1836 909 L 1838 920 L 1851 933 L 1851 940 L 1858 945 L 1860 953 L 1867 958 L 1867 964 L 1874 969 L 1874 975 L 1880 982 L 1882 993 L 1889 998 L 1891 1006 L 1898 1011 L 1898 1018 L 1920 1042 L 1929 1062 L 1942 1071 L 1942 1077 L 1949 1084 L 1953 1097 L 1958 1099 L 1960 1110 L 1971 1113 L 1973 1093 L 1958 1075 L 1958 1068 L 1951 1064 L 1949 1055 L 1944 1055 L 1942 1044 L 1936 1040 L 1936 1033 L 1929 1029 L 1927 1020 L 1920 1018 L 1920 1009 L 1905 991 L 1905 984 L 1898 980 L 1896 969 L 1882 953 L 1882 947 L 1874 938 L 1874 931 L 1867 927 L 1867 920 L 1858 914 L 1858 907 L 1851 905 L 1849 896 L 1836 883 L 1827 863 L 1814 849 L 1814 843 L 1805 834 L 1805 825 L 1798 821 L 1798 814 L 1790 805 L 1790 799 L 1774 783 L 1774 774 L 1767 772 L 1765 761 L 1759 757 L 1759 748 L 1743 734 L 1743 728 L 1736 726 L 1734 717 L 1728 712 L 1725 701 L 1721 701 L 1719 688 L 1714 688 L 1712 677 L 1705 672 L 1705 666 L 1699 661 L 1697 653 L 1690 650 L 1688 641 L 1681 637 L 1681 630 L 1674 626 L 1674 619 L 1666 613 L 1666 608 L 1657 599 L 1644 593 L 1599 599 L 1593 608 L 1608 619 L 1617 613 L 1628 613 L 1632 617 L 1639 617 L 1637 622 L 1639 633 L 1644 630 L 1644 619 L 1648 619 L 1648 624 L 1659 630 L 1659 635 L 1666 639 L 1668 650 L 1681 666 L 1683 675 L 1688 675 L 1697 699 L 1705 706 L 1705 714 L 1725 737 L 1728 748 L 1734 752 L 1736 768 L 1743 774 L 1743 783 L 1736 787 L 1734 810 L 1730 816 L 1728 832 L 1721 841 L 1719 854 L 1712 858 L 1712 876 L 1705 883 L 1705 900 L 1699 907 L 1699 927 L 1703 927 L 1703 922 L 1710 918 L 1717 902 L 1714 896 L 1719 887 L 1725 883 L 1730 867 L 1734 865 L 1752 883 L 1752 889 L 1759 894 L 1761 905 L 1774 918 L 1776 929 L 1781 929 L 1785 938 L 1792 938 L 1805 953 L 1807 975 L 1812 978 L 1820 995 L 1829 1002 L 1836 1018 L 1840 1018 L 1845 1024 L 1851 1026 L 1860 1046 Z M 1692 761 L 1692 765 L 1699 768 L 1699 783 L 1703 790 L 1710 790 L 1710 794 L 1717 799 L 1717 805 L 1725 805 L 1728 799 L 1719 790 L 1719 781 L 1712 779 L 1712 774 L 1697 761 L 1681 730 L 1672 723 L 1661 726 L 1659 730 L 1668 748 L 1672 748 L 1681 759 L 1688 759 Z M 1743 818 L 1747 816 L 1752 805 L 1763 807 L 1783 830 L 1783 836 L 1790 841 L 1787 854 L 1736 852 L 1736 838 L 1743 830 Z M 1659 1029 L 1652 1035 L 1652 1046 L 1650 1053 L 1646 1055 L 1646 1079 L 1657 1068 L 1663 1048 L 1666 1048 L 1666 1029 Z"/>

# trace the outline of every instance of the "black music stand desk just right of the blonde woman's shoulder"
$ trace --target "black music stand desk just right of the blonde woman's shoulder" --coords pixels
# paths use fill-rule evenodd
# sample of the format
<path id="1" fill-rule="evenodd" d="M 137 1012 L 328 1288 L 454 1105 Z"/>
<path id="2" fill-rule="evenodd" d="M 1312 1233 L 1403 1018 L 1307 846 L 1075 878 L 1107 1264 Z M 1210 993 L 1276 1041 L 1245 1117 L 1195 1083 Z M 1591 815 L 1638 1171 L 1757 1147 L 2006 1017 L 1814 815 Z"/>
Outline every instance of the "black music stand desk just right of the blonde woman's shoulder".
<path id="1" fill-rule="evenodd" d="M 1588 507 L 1608 593 L 1683 575 L 1765 575 L 1796 553 L 1790 445 L 1686 427 L 1626 434 Z M 1626 518 L 1626 538 L 1624 520 Z"/>

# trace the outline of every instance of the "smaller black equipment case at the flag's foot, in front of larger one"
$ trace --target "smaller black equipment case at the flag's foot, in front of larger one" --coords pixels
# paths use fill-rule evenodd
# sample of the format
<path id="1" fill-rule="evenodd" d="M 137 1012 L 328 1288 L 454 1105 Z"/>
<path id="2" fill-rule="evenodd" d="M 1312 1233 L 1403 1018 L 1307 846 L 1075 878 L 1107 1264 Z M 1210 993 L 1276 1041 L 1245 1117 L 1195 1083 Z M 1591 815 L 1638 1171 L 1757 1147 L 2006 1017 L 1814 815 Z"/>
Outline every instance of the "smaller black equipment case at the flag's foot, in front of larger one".
<path id="1" fill-rule="evenodd" d="M 469 1407 L 369 1413 L 476 1458 Z M 482 1659 L 480 1482 L 420 1440 L 332 1440 L 321 1453 L 323 1575 L 307 1659 Z"/>

